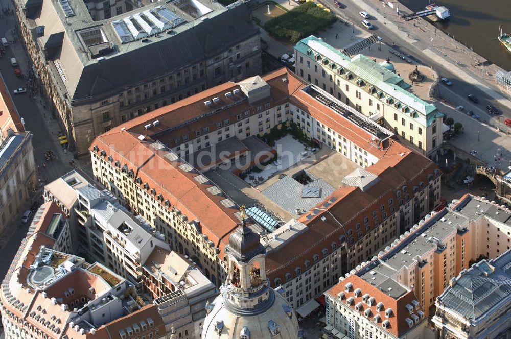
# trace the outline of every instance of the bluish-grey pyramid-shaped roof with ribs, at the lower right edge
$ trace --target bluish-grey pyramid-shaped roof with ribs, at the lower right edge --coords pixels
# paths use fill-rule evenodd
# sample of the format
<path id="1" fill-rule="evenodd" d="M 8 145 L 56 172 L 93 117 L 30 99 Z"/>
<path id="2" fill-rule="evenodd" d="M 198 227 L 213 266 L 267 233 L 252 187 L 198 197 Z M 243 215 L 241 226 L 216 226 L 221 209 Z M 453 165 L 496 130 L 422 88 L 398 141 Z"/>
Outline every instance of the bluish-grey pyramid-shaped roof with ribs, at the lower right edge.
<path id="1" fill-rule="evenodd" d="M 511 300 L 511 250 L 474 264 L 438 297 L 444 307 L 474 321 Z"/>

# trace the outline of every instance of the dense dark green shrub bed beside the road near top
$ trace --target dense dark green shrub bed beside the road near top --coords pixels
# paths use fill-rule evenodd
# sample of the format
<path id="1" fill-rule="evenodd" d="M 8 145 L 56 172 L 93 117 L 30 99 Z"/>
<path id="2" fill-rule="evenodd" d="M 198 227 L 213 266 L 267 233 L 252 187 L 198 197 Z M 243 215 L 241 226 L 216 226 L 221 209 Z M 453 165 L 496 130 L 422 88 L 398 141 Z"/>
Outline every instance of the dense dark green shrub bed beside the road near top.
<path id="1" fill-rule="evenodd" d="M 334 14 L 308 2 L 266 22 L 264 29 L 276 39 L 296 43 L 335 21 Z"/>

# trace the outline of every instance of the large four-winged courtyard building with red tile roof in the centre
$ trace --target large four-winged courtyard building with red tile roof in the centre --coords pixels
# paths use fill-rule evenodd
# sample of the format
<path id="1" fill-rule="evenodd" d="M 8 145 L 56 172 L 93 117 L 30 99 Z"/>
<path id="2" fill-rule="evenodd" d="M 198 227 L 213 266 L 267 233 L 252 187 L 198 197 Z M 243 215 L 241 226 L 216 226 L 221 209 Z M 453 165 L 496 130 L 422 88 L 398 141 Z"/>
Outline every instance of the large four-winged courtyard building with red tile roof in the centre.
<path id="1" fill-rule="evenodd" d="M 335 187 L 324 185 L 316 200 L 302 197 L 295 174 L 273 187 L 291 194 L 289 188 L 296 186 L 294 196 L 254 196 L 264 201 L 264 206 L 251 205 L 257 213 L 280 218 L 272 220 L 273 228 L 247 208 L 268 248 L 270 284 L 283 284 L 297 308 L 439 203 L 440 171 L 394 140 L 391 131 L 281 69 L 208 89 L 99 136 L 90 147 L 92 169 L 103 187 L 165 234 L 173 250 L 191 257 L 219 286 L 226 279 L 226 239 L 239 223 L 237 207 L 246 201 L 232 198 L 240 197 L 229 191 L 235 186 L 215 174 L 222 166 L 203 168 L 195 159 L 206 154 L 215 162 L 223 152 L 220 163 L 236 167 L 230 170 L 235 174 L 223 171 L 223 178 L 237 181 L 238 165 L 253 164 L 262 149 L 254 136 L 275 126 L 289 128 L 291 122 L 300 128 L 309 123 L 308 137 L 356 168 L 333 181 Z M 290 200 L 298 211 L 283 203 Z M 304 248 L 299 240 L 304 237 L 313 246 Z"/>

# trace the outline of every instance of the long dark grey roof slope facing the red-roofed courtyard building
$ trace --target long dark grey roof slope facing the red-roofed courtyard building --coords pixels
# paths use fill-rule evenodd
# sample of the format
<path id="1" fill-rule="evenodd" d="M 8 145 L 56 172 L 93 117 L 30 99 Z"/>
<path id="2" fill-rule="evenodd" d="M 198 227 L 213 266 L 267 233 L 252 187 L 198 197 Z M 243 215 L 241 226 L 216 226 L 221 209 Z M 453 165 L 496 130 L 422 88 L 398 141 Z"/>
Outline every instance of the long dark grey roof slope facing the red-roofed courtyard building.
<path id="1" fill-rule="evenodd" d="M 225 51 L 227 46 L 258 33 L 258 29 L 249 21 L 249 11 L 245 5 L 195 22 L 194 27 L 174 36 L 150 38 L 153 42 L 143 47 L 112 57 L 106 55 L 101 62 L 89 62 L 83 67 L 74 91 L 73 86 L 66 83 L 71 100 L 86 99 L 122 88 L 160 75 L 165 70 L 216 55 Z"/>

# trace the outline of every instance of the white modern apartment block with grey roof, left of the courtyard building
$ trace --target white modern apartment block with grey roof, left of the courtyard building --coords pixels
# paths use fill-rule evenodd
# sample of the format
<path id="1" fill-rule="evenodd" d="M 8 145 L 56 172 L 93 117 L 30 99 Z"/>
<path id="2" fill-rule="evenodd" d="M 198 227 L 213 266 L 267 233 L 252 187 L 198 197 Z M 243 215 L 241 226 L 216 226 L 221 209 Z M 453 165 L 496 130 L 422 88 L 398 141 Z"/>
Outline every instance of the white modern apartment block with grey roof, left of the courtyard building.
<path id="1" fill-rule="evenodd" d="M 140 216 L 130 215 L 108 191 L 89 184 L 77 188 L 76 196 L 80 246 L 141 290 L 141 265 L 156 246 L 169 249 L 165 236 Z"/>

